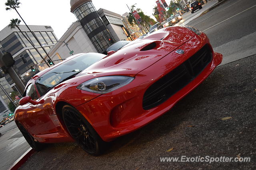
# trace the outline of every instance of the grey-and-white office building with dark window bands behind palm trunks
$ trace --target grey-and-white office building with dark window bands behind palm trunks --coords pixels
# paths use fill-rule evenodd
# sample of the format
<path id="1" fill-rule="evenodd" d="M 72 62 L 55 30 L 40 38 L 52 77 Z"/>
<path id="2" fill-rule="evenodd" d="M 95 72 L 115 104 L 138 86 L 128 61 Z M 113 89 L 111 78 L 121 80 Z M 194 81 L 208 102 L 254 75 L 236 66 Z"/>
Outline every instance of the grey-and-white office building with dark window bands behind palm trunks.
<path id="1" fill-rule="evenodd" d="M 50 51 L 50 48 L 58 40 L 54 35 L 53 29 L 50 26 L 41 26 L 41 25 L 28 25 L 31 31 L 36 35 L 41 45 L 44 45 L 46 52 Z M 30 80 L 34 75 L 34 72 L 31 71 L 30 66 L 36 67 L 38 70 L 43 70 L 48 66 L 43 64 L 38 66 L 39 63 L 42 64 L 42 59 L 46 56 L 46 53 L 40 47 L 39 43 L 36 41 L 35 37 L 28 30 L 26 25 L 19 25 L 18 28 L 11 29 L 6 26 L 0 31 L 0 50 L 2 53 L 9 52 L 12 54 L 15 60 L 14 69 L 17 74 L 21 77 L 24 84 Z M 34 47 L 37 49 L 35 49 Z M 22 61 L 22 58 L 26 60 Z M 27 75 L 28 74 L 28 75 Z M 7 82 L 14 86 L 14 82 L 8 74 L 5 76 Z"/>

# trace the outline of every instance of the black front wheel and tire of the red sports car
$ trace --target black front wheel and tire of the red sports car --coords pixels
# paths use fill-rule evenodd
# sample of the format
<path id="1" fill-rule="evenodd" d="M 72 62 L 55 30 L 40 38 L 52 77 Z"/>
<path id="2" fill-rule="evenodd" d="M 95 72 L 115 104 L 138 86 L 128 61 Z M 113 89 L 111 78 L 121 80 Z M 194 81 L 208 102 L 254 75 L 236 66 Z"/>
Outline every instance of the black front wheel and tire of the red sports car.
<path id="1" fill-rule="evenodd" d="M 94 156 L 102 153 L 106 142 L 102 141 L 98 133 L 79 111 L 72 106 L 65 105 L 62 107 L 62 117 L 68 132 L 79 147 Z"/>

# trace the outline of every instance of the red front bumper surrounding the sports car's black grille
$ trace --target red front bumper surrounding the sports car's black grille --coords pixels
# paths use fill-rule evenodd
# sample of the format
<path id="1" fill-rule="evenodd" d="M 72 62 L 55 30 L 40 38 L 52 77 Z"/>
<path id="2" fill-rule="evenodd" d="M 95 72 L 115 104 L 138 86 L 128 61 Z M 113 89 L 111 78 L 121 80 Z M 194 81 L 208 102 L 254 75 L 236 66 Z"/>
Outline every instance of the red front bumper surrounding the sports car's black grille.
<path id="1" fill-rule="evenodd" d="M 212 61 L 194 80 L 168 98 L 164 103 L 149 110 L 143 109 L 142 101 L 146 90 L 206 44 L 210 46 L 209 39 L 204 33 L 200 36 L 195 35 L 179 47 L 179 49 L 185 51 L 184 55 L 179 55 L 173 51 L 152 66 L 138 73 L 130 84 L 108 94 L 101 95 L 90 102 L 76 107 L 76 109 L 86 117 L 104 141 L 112 141 L 116 137 L 135 131 L 170 110 L 174 104 L 196 88 L 221 63 L 222 55 L 214 53 L 210 46 L 213 54 Z"/>

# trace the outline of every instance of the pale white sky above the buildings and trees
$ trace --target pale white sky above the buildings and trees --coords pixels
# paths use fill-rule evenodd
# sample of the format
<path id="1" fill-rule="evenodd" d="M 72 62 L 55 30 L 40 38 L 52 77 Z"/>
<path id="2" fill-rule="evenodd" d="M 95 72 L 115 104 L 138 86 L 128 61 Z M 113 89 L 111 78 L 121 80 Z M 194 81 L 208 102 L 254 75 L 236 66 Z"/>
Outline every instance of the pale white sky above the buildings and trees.
<path id="1" fill-rule="evenodd" d="M 20 19 L 15 10 L 5 10 L 5 2 L 6 0 L 0 0 L 0 30 L 9 24 L 11 19 Z M 20 2 L 22 4 L 18 12 L 28 25 L 50 25 L 58 39 L 72 22 L 77 20 L 70 12 L 70 0 L 20 0 Z M 156 0 L 92 0 L 92 3 L 96 10 L 104 8 L 120 15 L 129 12 L 126 4 L 128 6 L 136 4 L 136 8 L 142 9 L 144 14 L 155 19 L 152 13 Z M 170 0 L 166 0 L 166 3 L 170 4 Z"/>

